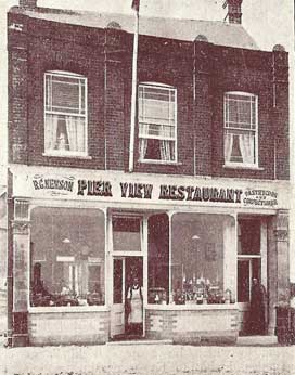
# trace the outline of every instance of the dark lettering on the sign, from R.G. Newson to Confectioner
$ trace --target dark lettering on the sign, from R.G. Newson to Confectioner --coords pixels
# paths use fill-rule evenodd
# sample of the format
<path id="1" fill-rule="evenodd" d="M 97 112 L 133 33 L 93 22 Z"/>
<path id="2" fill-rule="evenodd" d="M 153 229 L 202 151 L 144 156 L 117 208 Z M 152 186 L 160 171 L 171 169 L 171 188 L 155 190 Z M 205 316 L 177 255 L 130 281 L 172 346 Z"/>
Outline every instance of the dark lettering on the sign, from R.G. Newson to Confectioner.
<path id="1" fill-rule="evenodd" d="M 112 182 L 111 182 L 112 181 Z M 278 205 L 278 193 L 267 189 L 232 189 L 197 185 L 158 184 L 143 182 L 98 180 L 77 180 L 75 177 L 48 177 L 35 174 L 31 183 L 37 192 L 50 195 L 114 197 L 115 199 L 153 199 L 182 202 L 216 202 L 262 206 L 272 208 Z"/>

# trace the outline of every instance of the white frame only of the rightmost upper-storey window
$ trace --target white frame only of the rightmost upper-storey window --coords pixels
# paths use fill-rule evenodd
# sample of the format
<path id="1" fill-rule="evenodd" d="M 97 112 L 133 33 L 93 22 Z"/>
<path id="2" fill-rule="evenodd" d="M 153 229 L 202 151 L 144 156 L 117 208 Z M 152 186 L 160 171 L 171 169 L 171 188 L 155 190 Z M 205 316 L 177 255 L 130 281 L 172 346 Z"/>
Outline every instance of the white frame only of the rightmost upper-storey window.
<path id="1" fill-rule="evenodd" d="M 254 100 L 255 104 L 255 122 L 252 122 L 253 120 L 253 109 L 252 109 L 252 102 L 251 102 L 251 122 L 249 122 L 249 128 L 236 128 L 236 127 L 231 127 L 229 125 L 229 113 L 227 108 L 227 103 L 228 103 L 228 95 L 236 95 L 236 96 L 246 96 L 251 98 Z M 240 100 L 240 99 L 238 99 Z M 229 107 L 229 106 L 228 106 Z M 249 92 L 242 92 L 242 91 L 227 91 L 223 94 L 223 158 L 225 158 L 225 167 L 236 167 L 236 168 L 258 168 L 258 160 L 259 160 L 259 155 L 258 155 L 258 95 L 249 93 Z M 254 140 L 255 140 L 255 145 L 254 145 L 254 163 L 244 163 L 244 161 L 229 161 L 226 159 L 226 150 L 225 150 L 225 135 L 227 130 L 236 130 L 236 131 L 243 131 L 245 132 L 254 132 Z"/>

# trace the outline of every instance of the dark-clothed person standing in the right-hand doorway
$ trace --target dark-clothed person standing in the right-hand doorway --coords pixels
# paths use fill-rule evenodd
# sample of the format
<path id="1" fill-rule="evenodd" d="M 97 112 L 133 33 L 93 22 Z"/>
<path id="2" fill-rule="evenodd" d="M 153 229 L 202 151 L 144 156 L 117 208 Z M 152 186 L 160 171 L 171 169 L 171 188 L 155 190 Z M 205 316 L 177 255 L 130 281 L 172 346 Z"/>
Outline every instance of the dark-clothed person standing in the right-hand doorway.
<path id="1" fill-rule="evenodd" d="M 252 280 L 248 331 L 253 335 L 266 334 L 267 294 L 256 277 Z"/>

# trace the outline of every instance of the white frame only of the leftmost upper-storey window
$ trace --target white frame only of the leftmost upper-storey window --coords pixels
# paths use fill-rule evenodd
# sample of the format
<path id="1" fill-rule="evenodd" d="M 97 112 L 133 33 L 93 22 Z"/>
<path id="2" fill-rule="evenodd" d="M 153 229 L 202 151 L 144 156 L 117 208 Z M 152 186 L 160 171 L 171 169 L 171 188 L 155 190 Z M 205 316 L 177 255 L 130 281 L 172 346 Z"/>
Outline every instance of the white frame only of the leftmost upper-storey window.
<path id="1" fill-rule="evenodd" d="M 85 86 L 85 114 L 81 113 L 81 91 L 79 92 L 79 112 L 80 113 L 68 113 L 63 111 L 49 111 L 47 109 L 47 99 L 49 95 L 48 88 L 47 88 L 47 77 L 66 77 L 66 78 L 74 78 L 80 81 L 84 81 Z M 43 94 L 43 105 L 44 105 L 44 127 L 46 127 L 46 118 L 47 115 L 61 115 L 61 116 L 73 116 L 73 117 L 79 117 L 85 119 L 85 145 L 82 152 L 80 151 L 70 151 L 70 150 L 46 150 L 46 132 L 44 132 L 44 156 L 59 156 L 59 157 L 87 157 L 88 156 L 88 81 L 87 77 L 82 75 L 78 75 L 70 72 L 63 72 L 63 70 L 48 70 L 44 73 L 44 94 Z"/>

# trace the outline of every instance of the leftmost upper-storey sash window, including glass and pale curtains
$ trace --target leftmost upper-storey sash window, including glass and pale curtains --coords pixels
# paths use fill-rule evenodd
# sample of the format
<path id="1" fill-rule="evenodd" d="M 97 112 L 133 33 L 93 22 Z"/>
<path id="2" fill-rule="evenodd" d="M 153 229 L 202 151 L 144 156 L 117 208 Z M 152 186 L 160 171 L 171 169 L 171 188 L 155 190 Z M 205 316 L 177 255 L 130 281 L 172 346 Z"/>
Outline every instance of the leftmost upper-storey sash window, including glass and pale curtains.
<path id="1" fill-rule="evenodd" d="M 87 155 L 87 79 L 66 72 L 44 75 L 44 151 Z"/>

